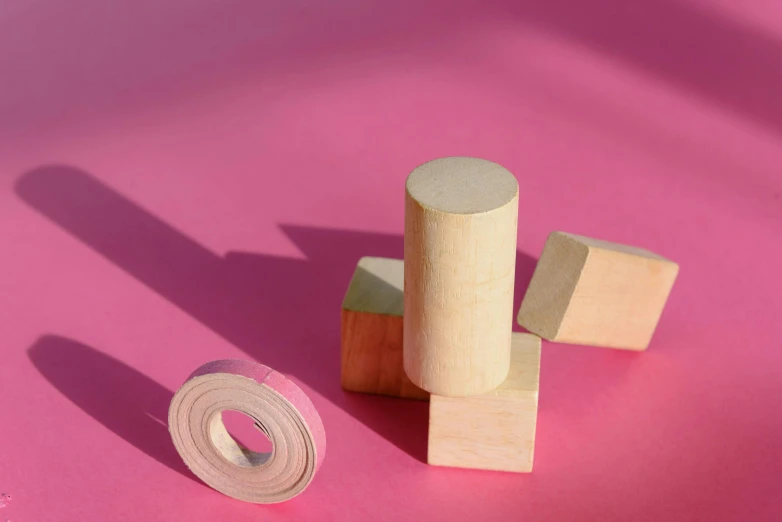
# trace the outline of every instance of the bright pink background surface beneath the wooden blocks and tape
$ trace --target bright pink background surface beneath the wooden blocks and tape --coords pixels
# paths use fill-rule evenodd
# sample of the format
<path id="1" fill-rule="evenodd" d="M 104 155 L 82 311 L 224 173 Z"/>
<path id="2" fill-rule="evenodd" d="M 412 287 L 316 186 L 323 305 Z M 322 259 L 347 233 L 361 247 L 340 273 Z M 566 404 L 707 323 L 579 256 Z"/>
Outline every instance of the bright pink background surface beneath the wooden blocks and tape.
<path id="1" fill-rule="evenodd" d="M 780 5 L 4 1 L 0 520 L 778 520 Z M 339 387 L 355 262 L 445 155 L 518 177 L 517 306 L 552 230 L 681 264 L 647 352 L 544 343 L 530 475 L 428 467 L 426 404 Z M 221 358 L 318 408 L 300 497 L 181 463 Z"/>

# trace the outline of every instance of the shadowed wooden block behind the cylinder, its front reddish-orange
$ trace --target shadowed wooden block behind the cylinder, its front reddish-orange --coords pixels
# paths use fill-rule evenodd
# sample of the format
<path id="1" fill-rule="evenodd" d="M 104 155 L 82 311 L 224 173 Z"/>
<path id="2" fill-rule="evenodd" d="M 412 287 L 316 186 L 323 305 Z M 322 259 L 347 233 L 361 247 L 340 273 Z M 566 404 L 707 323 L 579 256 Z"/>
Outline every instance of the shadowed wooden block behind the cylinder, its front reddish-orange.
<path id="1" fill-rule="evenodd" d="M 364 257 L 342 303 L 342 387 L 348 391 L 428 399 L 402 363 L 401 259 Z"/>

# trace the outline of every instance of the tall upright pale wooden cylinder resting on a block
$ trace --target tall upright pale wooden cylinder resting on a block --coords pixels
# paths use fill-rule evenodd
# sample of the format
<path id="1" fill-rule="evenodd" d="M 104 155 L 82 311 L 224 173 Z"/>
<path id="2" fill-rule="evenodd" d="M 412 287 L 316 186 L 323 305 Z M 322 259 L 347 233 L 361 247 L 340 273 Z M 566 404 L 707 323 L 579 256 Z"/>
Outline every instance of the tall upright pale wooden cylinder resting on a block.
<path id="1" fill-rule="evenodd" d="M 516 178 L 490 161 L 442 158 L 405 189 L 405 371 L 436 395 L 489 392 L 510 368 Z"/>

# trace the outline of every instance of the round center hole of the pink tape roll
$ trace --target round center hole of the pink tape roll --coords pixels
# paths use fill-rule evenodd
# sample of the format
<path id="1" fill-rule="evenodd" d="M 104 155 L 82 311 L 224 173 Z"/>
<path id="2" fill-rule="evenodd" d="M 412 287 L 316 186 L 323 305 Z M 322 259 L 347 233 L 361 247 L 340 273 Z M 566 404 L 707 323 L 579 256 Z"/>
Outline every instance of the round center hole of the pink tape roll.
<path id="1" fill-rule="evenodd" d="M 220 454 L 237 466 L 260 466 L 274 453 L 263 424 L 240 411 L 223 410 L 215 415 L 210 435 Z"/>

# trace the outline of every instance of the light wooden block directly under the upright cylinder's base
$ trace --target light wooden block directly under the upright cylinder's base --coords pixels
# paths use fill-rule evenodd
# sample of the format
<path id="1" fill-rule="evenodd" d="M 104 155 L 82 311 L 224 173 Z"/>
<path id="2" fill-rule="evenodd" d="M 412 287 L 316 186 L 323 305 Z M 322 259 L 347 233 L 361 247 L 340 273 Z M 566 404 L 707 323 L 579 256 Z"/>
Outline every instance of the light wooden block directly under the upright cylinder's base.
<path id="1" fill-rule="evenodd" d="M 513 333 L 507 379 L 483 395 L 432 395 L 428 462 L 435 466 L 532 471 L 538 418 L 540 337 Z"/>

